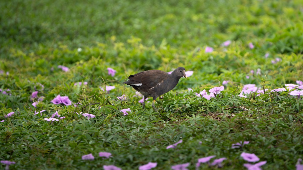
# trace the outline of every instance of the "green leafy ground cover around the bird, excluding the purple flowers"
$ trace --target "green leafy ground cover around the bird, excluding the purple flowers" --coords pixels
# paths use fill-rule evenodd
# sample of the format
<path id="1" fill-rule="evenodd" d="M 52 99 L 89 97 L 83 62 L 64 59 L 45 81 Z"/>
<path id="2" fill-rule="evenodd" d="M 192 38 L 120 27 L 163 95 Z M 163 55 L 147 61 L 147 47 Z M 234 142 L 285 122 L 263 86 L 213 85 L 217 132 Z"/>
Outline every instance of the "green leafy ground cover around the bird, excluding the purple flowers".
<path id="1" fill-rule="evenodd" d="M 290 91 L 270 90 L 303 80 L 302 4 L 1 1 L 0 89 L 11 95 L 0 94 L 0 159 L 16 162 L 12 169 L 127 170 L 148 162 L 158 163 L 154 169 L 189 162 L 194 169 L 199 158 L 216 155 L 227 158 L 222 169 L 246 169 L 240 155 L 247 152 L 267 161 L 262 169 L 295 169 L 303 154 L 303 102 Z M 231 44 L 222 46 L 227 40 Z M 207 46 L 214 51 L 206 53 Z M 141 98 L 122 83 L 142 70 L 179 66 L 194 74 L 157 99 L 160 115 L 152 99 L 142 110 Z M 108 67 L 117 71 L 114 77 Z M 229 83 L 220 95 L 196 97 L 224 80 Z M 245 84 L 270 90 L 240 97 Z M 115 89 L 102 91 L 109 85 Z M 34 91 L 44 100 L 32 100 Z M 59 94 L 81 104 L 51 103 Z M 122 95 L 126 100 L 117 98 Z M 125 108 L 132 112 L 124 116 Z M 46 111 L 34 115 L 40 110 Z M 44 120 L 56 111 L 65 118 Z M 6 118 L 10 112 L 15 114 Z M 181 139 L 176 149 L 166 149 Z M 250 143 L 231 148 L 240 141 Z M 82 160 L 90 153 L 94 161 Z M 218 167 L 201 164 L 205 168 Z"/>

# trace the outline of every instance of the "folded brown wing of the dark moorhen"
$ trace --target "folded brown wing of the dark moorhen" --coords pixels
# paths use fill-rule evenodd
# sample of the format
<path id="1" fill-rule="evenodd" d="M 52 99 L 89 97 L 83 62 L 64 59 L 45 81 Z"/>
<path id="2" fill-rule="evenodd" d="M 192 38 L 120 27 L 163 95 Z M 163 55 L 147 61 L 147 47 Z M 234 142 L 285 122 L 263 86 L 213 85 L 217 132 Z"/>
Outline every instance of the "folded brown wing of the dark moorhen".
<path id="1" fill-rule="evenodd" d="M 133 80 L 148 87 L 154 87 L 160 83 L 163 79 L 167 78 L 168 74 L 161 70 L 148 70 L 140 73 L 131 75 L 128 77 L 129 80 Z"/>

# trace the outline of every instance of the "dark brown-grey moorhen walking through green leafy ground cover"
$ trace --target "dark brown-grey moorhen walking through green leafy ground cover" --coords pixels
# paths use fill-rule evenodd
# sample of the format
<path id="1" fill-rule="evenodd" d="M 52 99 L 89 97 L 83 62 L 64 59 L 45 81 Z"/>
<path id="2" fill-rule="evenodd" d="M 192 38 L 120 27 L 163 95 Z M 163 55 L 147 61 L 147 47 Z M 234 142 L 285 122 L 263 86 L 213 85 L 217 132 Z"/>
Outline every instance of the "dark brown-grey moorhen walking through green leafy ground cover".
<path id="1" fill-rule="evenodd" d="M 158 112 L 155 108 L 157 97 L 175 88 L 181 77 L 187 78 L 184 67 L 178 67 L 171 74 L 161 70 L 147 70 L 130 75 L 129 80 L 123 83 L 132 86 L 144 96 L 142 109 L 145 107 L 145 99 L 152 97 L 151 106 L 155 112 Z"/>

